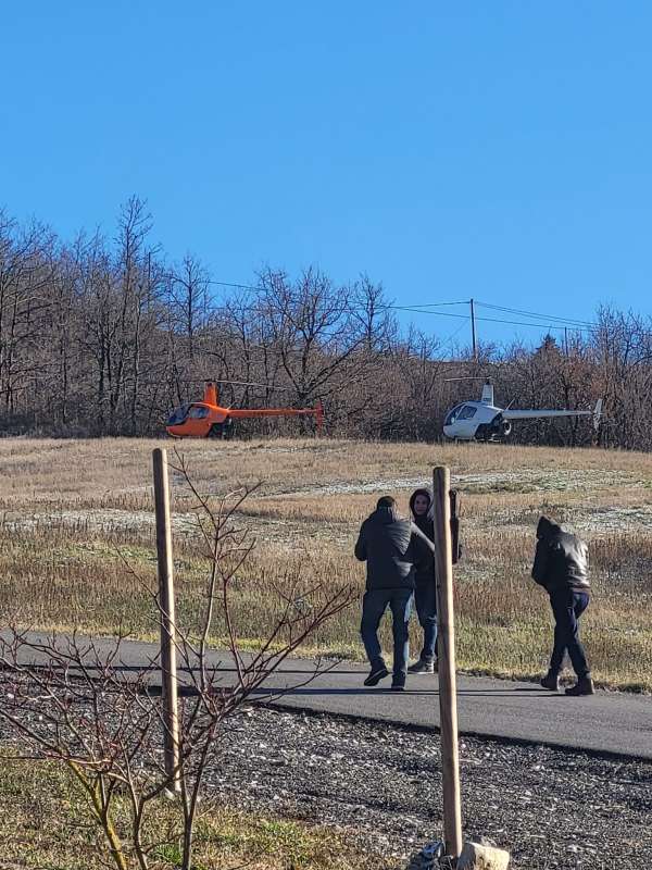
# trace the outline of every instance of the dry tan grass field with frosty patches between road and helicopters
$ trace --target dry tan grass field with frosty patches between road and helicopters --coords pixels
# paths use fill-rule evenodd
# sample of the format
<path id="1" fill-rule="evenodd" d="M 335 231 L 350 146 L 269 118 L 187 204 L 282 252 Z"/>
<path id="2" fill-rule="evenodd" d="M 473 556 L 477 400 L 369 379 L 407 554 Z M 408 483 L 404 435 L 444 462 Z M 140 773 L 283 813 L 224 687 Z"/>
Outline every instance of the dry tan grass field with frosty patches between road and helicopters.
<path id="1" fill-rule="evenodd" d="M 155 634 L 151 607 L 125 560 L 155 580 L 151 450 L 128 439 L 0 440 L 0 612 L 24 625 Z M 531 678 L 547 663 L 551 619 L 529 580 L 537 518 L 590 543 L 592 605 L 584 637 L 599 683 L 652 691 L 652 456 L 510 445 L 343 440 L 177 445 L 202 494 L 260 484 L 238 521 L 256 538 L 235 588 L 237 627 L 254 645 L 272 623 L 273 589 L 292 576 L 350 581 L 361 520 L 380 494 L 406 510 L 436 464 L 462 493 L 465 556 L 456 571 L 460 667 Z M 180 619 L 192 620 L 205 566 L 193 501 L 173 474 Z M 306 652 L 362 658 L 356 608 L 326 624 Z M 214 642 L 223 626 L 215 623 Z M 416 621 L 414 638 L 418 637 Z M 389 646 L 389 633 L 385 634 Z"/>

